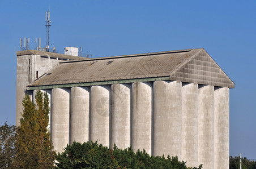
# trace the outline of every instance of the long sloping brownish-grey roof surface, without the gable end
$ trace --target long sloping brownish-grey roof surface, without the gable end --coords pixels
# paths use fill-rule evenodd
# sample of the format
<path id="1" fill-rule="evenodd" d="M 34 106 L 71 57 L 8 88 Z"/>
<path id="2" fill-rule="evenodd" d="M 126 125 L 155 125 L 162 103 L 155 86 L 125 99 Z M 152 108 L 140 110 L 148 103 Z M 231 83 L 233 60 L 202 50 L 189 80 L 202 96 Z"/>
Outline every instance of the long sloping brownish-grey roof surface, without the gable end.
<path id="1" fill-rule="evenodd" d="M 31 86 L 168 77 L 201 51 L 204 49 L 65 61 L 37 79 Z"/>

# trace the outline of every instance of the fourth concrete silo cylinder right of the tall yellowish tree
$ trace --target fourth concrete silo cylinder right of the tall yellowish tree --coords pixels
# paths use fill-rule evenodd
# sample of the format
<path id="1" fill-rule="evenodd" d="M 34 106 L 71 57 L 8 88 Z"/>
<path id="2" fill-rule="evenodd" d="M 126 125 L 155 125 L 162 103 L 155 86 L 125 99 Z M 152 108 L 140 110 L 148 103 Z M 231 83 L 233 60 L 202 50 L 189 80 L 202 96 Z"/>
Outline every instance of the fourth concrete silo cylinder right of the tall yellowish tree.
<path id="1" fill-rule="evenodd" d="M 114 144 L 122 149 L 130 146 L 130 92 L 127 84 L 111 86 L 111 148 Z"/>

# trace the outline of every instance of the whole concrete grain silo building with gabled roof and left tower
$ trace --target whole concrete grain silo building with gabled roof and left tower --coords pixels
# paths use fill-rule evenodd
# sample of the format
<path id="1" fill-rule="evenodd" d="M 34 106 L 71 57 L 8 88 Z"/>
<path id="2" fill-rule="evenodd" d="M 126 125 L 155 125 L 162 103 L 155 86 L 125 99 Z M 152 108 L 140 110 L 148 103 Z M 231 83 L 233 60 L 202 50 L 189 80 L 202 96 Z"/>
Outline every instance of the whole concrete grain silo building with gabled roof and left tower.
<path id="1" fill-rule="evenodd" d="M 87 59 L 17 52 L 16 124 L 25 92 L 50 96 L 54 149 L 88 140 L 188 166 L 229 167 L 229 88 L 203 48 Z"/>

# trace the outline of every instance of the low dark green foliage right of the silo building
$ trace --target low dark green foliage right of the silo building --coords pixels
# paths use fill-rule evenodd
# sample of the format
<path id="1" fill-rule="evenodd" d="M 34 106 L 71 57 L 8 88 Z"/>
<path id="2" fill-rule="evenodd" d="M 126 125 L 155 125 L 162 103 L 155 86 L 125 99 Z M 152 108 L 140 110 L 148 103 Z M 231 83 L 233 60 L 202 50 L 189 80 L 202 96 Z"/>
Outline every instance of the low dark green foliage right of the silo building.
<path id="1" fill-rule="evenodd" d="M 240 157 L 229 157 L 229 168 L 237 169 L 240 168 Z M 246 157 L 242 157 L 242 169 L 256 169 L 256 162 L 250 161 Z"/>

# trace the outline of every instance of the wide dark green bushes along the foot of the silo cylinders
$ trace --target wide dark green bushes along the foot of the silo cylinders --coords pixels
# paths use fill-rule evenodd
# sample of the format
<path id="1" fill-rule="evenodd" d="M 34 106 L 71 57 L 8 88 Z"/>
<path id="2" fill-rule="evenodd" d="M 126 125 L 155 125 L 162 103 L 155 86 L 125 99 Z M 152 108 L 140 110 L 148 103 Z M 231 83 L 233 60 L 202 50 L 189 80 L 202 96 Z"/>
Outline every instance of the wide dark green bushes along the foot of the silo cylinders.
<path id="1" fill-rule="evenodd" d="M 179 162 L 178 157 L 151 156 L 133 149 L 113 149 L 93 142 L 72 143 L 65 152 L 58 153 L 56 168 L 177 168 L 185 169 L 186 162 Z M 202 168 L 199 166 L 198 169 Z M 197 169 L 194 167 L 194 169 Z"/>

